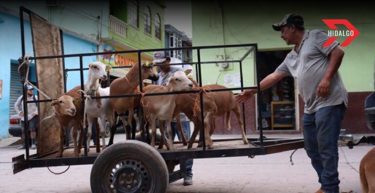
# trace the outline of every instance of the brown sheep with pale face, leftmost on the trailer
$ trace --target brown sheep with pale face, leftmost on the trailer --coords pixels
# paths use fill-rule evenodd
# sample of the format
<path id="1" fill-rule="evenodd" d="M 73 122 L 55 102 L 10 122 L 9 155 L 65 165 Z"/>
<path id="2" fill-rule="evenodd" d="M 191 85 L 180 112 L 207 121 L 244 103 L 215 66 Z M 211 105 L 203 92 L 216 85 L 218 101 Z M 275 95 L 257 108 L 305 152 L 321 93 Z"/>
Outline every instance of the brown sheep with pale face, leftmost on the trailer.
<path id="1" fill-rule="evenodd" d="M 57 100 L 51 102 L 51 106 L 55 109 L 55 117 L 60 123 L 60 145 L 58 157 L 62 157 L 63 152 L 63 138 L 65 129 L 73 124 L 73 142 L 74 142 L 74 155 L 78 156 L 82 149 L 83 140 L 83 111 L 82 111 L 82 98 L 77 91 L 81 86 L 76 86 L 72 90 L 60 95 Z M 77 144 L 78 127 L 81 127 L 80 139 Z"/>

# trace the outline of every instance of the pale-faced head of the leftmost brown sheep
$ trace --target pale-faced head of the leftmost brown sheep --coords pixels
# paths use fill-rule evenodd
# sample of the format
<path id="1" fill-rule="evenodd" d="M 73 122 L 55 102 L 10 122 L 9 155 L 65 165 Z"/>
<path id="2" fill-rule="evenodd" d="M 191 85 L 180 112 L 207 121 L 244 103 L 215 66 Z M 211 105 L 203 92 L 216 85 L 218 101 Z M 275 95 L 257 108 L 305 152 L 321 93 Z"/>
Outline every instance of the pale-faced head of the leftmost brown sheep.
<path id="1" fill-rule="evenodd" d="M 57 100 L 51 102 L 58 115 L 75 116 L 76 106 L 80 105 L 82 98 L 73 98 L 67 95 L 62 95 Z"/>

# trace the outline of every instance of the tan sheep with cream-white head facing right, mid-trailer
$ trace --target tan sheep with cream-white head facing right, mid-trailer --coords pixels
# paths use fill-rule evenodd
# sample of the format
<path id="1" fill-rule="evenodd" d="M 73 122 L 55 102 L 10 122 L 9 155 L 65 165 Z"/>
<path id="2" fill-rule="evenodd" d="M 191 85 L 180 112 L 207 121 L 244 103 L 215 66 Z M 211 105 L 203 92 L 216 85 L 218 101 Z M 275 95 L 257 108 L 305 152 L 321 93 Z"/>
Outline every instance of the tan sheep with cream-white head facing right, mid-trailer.
<path id="1" fill-rule="evenodd" d="M 149 93 L 164 93 L 181 91 L 193 88 L 193 83 L 187 78 L 184 72 L 175 72 L 169 78 L 167 86 L 161 85 L 148 85 L 144 89 L 145 94 Z M 151 146 L 155 147 L 155 135 L 156 135 L 156 119 L 159 122 L 165 121 L 167 124 L 167 133 L 170 140 L 165 138 L 164 125 L 159 124 L 160 133 L 162 133 L 162 141 L 166 141 L 166 146 L 168 150 L 173 150 L 173 143 L 171 140 L 172 130 L 170 127 L 170 122 L 172 120 L 173 111 L 175 109 L 175 99 L 177 95 L 162 95 L 162 96 L 149 96 L 143 98 L 143 104 L 145 107 L 145 116 L 147 116 L 147 122 L 149 127 L 152 129 L 151 135 Z"/>

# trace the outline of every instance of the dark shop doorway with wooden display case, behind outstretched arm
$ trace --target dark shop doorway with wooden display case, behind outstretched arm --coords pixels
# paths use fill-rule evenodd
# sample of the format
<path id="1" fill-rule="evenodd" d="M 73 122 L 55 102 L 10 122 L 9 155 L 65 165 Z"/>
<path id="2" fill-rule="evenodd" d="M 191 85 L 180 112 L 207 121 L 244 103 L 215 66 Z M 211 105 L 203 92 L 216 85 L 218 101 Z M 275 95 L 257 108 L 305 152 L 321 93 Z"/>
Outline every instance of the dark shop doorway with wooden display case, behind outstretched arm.
<path id="1" fill-rule="evenodd" d="M 273 73 L 291 50 L 259 52 L 260 79 Z M 261 92 L 263 130 L 295 130 L 295 96 L 293 77 L 284 77 Z M 259 129 L 259 128 L 258 128 Z"/>

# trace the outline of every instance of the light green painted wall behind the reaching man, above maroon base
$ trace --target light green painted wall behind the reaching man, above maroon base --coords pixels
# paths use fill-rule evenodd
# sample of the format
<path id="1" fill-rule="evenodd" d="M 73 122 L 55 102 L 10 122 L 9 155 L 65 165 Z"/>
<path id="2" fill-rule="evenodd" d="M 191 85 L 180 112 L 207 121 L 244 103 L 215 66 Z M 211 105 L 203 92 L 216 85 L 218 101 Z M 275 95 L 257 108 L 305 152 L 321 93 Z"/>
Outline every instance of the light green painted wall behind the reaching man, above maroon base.
<path id="1" fill-rule="evenodd" d="M 328 27 L 321 19 L 348 19 L 360 32 L 359 36 L 346 47 L 340 73 L 349 92 L 373 91 L 375 12 L 370 4 L 350 5 L 325 2 L 308 5 L 285 2 L 236 2 L 192 1 L 193 46 L 258 43 L 260 51 L 292 49 L 280 38 L 280 32 L 273 31 L 271 24 L 279 22 L 285 14 L 296 13 L 305 20 L 306 29 Z M 221 7 L 221 8 L 220 8 Z M 346 30 L 340 26 L 340 30 Z M 342 42 L 343 39 L 339 39 Z M 226 49 L 226 57 L 240 58 L 244 48 Z M 223 49 L 201 51 L 201 60 L 218 60 L 224 55 Z M 197 61 L 196 52 L 193 52 Z M 254 84 L 253 56 L 243 63 L 244 84 Z M 231 68 L 231 67 L 229 67 Z M 220 66 L 202 66 L 203 83 L 215 83 L 222 71 Z M 238 65 L 233 70 L 224 71 L 218 84 L 224 85 L 225 74 L 239 73 Z M 230 86 L 229 86 L 230 87 Z"/>

